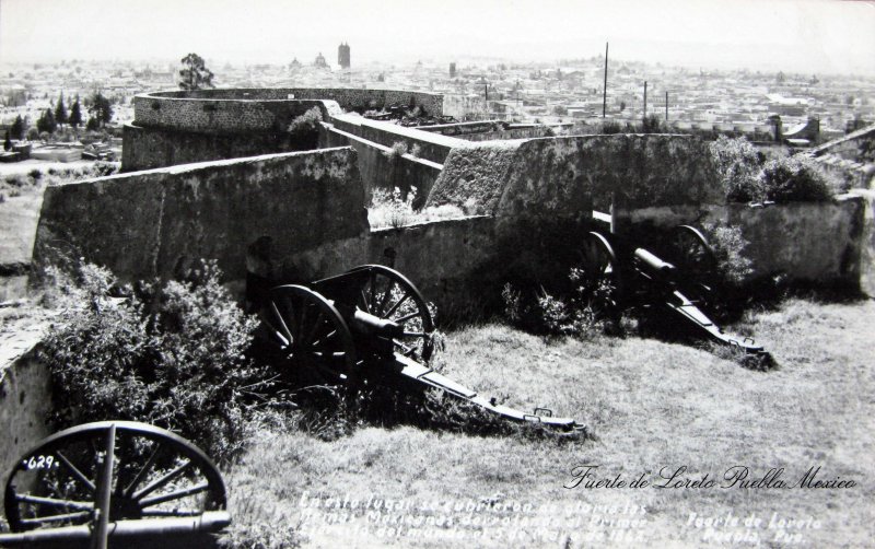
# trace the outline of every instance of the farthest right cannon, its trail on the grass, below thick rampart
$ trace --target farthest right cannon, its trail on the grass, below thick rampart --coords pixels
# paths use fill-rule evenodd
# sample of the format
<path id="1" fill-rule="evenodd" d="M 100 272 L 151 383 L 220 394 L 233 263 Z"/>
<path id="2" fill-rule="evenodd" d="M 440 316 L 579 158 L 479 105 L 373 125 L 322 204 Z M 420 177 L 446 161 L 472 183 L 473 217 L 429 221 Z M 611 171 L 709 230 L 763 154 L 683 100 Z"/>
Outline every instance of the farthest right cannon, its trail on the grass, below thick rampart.
<path id="1" fill-rule="evenodd" d="M 610 217 L 594 212 L 594 219 L 607 222 Z M 621 235 L 590 232 L 581 246 L 584 287 L 590 292 L 612 289 L 619 311 L 662 306 L 699 335 L 743 351 L 745 362 L 768 361 L 762 346 L 725 334 L 702 309 L 718 293 L 718 261 L 702 232 L 679 225 L 661 247 L 662 256 Z"/>

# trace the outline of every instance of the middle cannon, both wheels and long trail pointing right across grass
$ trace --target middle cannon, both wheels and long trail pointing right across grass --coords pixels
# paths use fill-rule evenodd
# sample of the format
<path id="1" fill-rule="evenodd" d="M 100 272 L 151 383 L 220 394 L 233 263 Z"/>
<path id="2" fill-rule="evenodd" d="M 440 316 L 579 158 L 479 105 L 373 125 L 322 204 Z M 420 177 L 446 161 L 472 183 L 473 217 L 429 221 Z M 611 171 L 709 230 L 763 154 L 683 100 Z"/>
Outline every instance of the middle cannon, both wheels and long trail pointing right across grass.
<path id="1" fill-rule="evenodd" d="M 388 267 L 363 265 L 305 285 L 279 285 L 259 308 L 261 328 L 284 367 L 316 369 L 350 394 L 362 383 L 409 392 L 435 388 L 513 421 L 585 432 L 547 408 L 528 413 L 500 405 L 429 366 L 432 312 L 413 283 Z"/>

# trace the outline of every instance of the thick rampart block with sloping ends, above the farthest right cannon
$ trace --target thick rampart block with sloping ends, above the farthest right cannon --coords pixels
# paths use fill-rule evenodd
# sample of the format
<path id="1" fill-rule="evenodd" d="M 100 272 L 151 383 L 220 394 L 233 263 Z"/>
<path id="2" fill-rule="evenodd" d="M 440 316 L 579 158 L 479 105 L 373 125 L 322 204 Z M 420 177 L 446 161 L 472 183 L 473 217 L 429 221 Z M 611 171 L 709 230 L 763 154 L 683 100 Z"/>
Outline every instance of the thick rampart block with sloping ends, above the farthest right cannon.
<path id="1" fill-rule="evenodd" d="M 467 143 L 453 149 L 428 206 L 490 215 L 580 217 L 630 208 L 722 203 L 704 145 L 687 136 L 616 135 Z"/>

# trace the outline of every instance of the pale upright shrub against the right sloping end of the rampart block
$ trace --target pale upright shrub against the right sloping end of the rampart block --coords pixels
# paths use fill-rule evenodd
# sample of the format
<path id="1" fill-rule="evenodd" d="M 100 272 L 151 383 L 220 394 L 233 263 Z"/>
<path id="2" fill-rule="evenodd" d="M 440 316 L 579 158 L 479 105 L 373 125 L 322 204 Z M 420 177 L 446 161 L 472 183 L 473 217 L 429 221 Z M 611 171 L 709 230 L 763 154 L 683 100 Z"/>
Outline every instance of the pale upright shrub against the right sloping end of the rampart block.
<path id="1" fill-rule="evenodd" d="M 716 141 L 709 143 L 708 149 L 720 175 L 726 200 L 749 202 L 766 198 L 766 190 L 760 179 L 761 161 L 757 150 L 747 139 L 720 136 Z"/>

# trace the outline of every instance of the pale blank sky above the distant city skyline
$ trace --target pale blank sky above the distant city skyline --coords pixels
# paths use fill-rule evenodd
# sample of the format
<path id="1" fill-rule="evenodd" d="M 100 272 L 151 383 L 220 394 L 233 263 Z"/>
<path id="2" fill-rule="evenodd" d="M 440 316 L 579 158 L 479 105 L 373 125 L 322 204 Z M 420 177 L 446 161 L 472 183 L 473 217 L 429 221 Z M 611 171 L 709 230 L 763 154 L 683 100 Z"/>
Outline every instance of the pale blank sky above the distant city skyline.
<path id="1" fill-rule="evenodd" d="M 875 0 L 0 0 L 0 62 L 593 57 L 875 75 Z"/>

